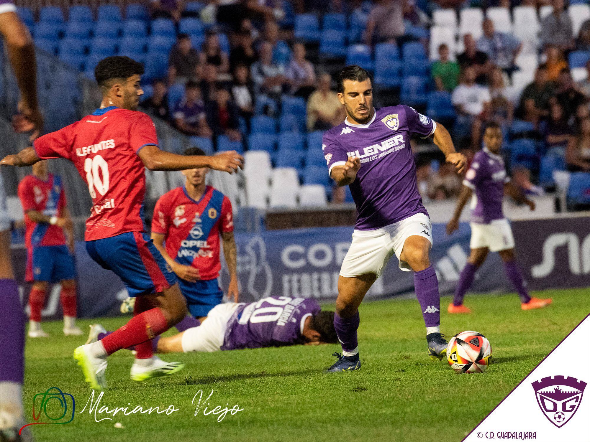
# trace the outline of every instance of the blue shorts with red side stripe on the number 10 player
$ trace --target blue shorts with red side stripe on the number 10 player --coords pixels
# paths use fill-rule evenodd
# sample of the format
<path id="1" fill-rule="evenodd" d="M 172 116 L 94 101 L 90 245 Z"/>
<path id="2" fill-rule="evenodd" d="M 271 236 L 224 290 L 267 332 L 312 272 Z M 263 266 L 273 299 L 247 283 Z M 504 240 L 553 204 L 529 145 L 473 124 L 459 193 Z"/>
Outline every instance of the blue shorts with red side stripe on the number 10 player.
<path id="1" fill-rule="evenodd" d="M 86 242 L 92 259 L 123 280 L 129 296 L 160 293 L 176 282 L 176 276 L 143 232 L 121 233 Z"/>

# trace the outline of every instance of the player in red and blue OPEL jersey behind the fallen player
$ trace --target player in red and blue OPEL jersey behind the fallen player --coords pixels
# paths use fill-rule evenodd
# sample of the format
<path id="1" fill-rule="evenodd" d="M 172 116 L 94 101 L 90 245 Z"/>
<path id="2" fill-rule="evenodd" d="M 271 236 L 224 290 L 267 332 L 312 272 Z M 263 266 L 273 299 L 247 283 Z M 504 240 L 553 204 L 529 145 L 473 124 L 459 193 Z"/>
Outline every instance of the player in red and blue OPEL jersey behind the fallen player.
<path id="1" fill-rule="evenodd" d="M 185 155 L 205 155 L 205 152 L 192 147 Z M 228 297 L 238 302 L 231 202 L 219 190 L 205 184 L 207 171 L 202 167 L 183 170 L 185 184 L 160 197 L 152 219 L 153 243 L 178 276 L 189 312 L 197 319 L 207 316 L 223 297 L 217 282 L 221 271 L 220 235 L 230 272 Z"/>

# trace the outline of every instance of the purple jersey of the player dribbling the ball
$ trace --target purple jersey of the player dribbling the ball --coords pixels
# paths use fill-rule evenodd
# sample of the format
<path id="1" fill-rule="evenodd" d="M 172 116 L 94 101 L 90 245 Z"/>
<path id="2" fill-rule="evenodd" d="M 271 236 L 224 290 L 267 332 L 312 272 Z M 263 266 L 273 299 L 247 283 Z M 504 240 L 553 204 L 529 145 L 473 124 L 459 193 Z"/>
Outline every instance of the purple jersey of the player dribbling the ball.
<path id="1" fill-rule="evenodd" d="M 412 134 L 427 138 L 436 127 L 414 108 L 399 104 L 376 109 L 367 124 L 353 125 L 347 119 L 324 134 L 322 150 L 328 173 L 348 157 L 360 159 L 360 169 L 350 184 L 358 211 L 356 230 L 379 229 L 416 213 L 428 215 L 418 193 L 409 138 Z"/>

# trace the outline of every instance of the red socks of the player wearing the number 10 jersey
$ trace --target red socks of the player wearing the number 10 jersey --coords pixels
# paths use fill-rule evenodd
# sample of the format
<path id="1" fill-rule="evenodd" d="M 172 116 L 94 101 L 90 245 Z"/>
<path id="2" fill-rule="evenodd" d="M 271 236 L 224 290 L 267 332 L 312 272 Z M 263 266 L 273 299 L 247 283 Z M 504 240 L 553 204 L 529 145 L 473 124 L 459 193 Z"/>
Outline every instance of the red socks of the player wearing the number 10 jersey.
<path id="1" fill-rule="evenodd" d="M 123 325 L 120 329 L 114 331 L 112 334 L 104 337 L 102 342 L 107 354 L 113 354 L 114 352 L 122 349 L 136 346 L 138 351 L 137 357 L 139 358 L 139 348 L 137 344 L 158 336 L 168 330 L 168 323 L 160 308 L 152 308 L 139 315 L 133 316 L 127 324 Z M 150 344 L 150 352 L 152 346 Z M 142 352 L 142 356 L 145 357 L 145 350 Z M 148 356 L 148 357 L 151 357 Z"/>

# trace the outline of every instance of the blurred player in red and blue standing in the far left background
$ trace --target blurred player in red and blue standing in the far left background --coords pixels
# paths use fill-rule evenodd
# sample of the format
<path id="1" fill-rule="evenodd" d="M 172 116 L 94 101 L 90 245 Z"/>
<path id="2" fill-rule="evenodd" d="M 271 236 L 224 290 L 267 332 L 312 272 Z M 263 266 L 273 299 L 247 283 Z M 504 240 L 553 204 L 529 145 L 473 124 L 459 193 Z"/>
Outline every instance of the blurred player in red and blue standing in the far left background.
<path id="1" fill-rule="evenodd" d="M 39 161 L 33 164 L 32 174 L 18 184 L 18 197 L 25 212 L 25 278 L 33 283 L 29 293 L 29 337 L 49 336 L 41 328 L 41 309 L 49 285 L 54 282 L 61 284 L 64 334 L 81 335 L 76 326 L 74 233 L 61 177 L 48 173 L 47 161 Z"/>

